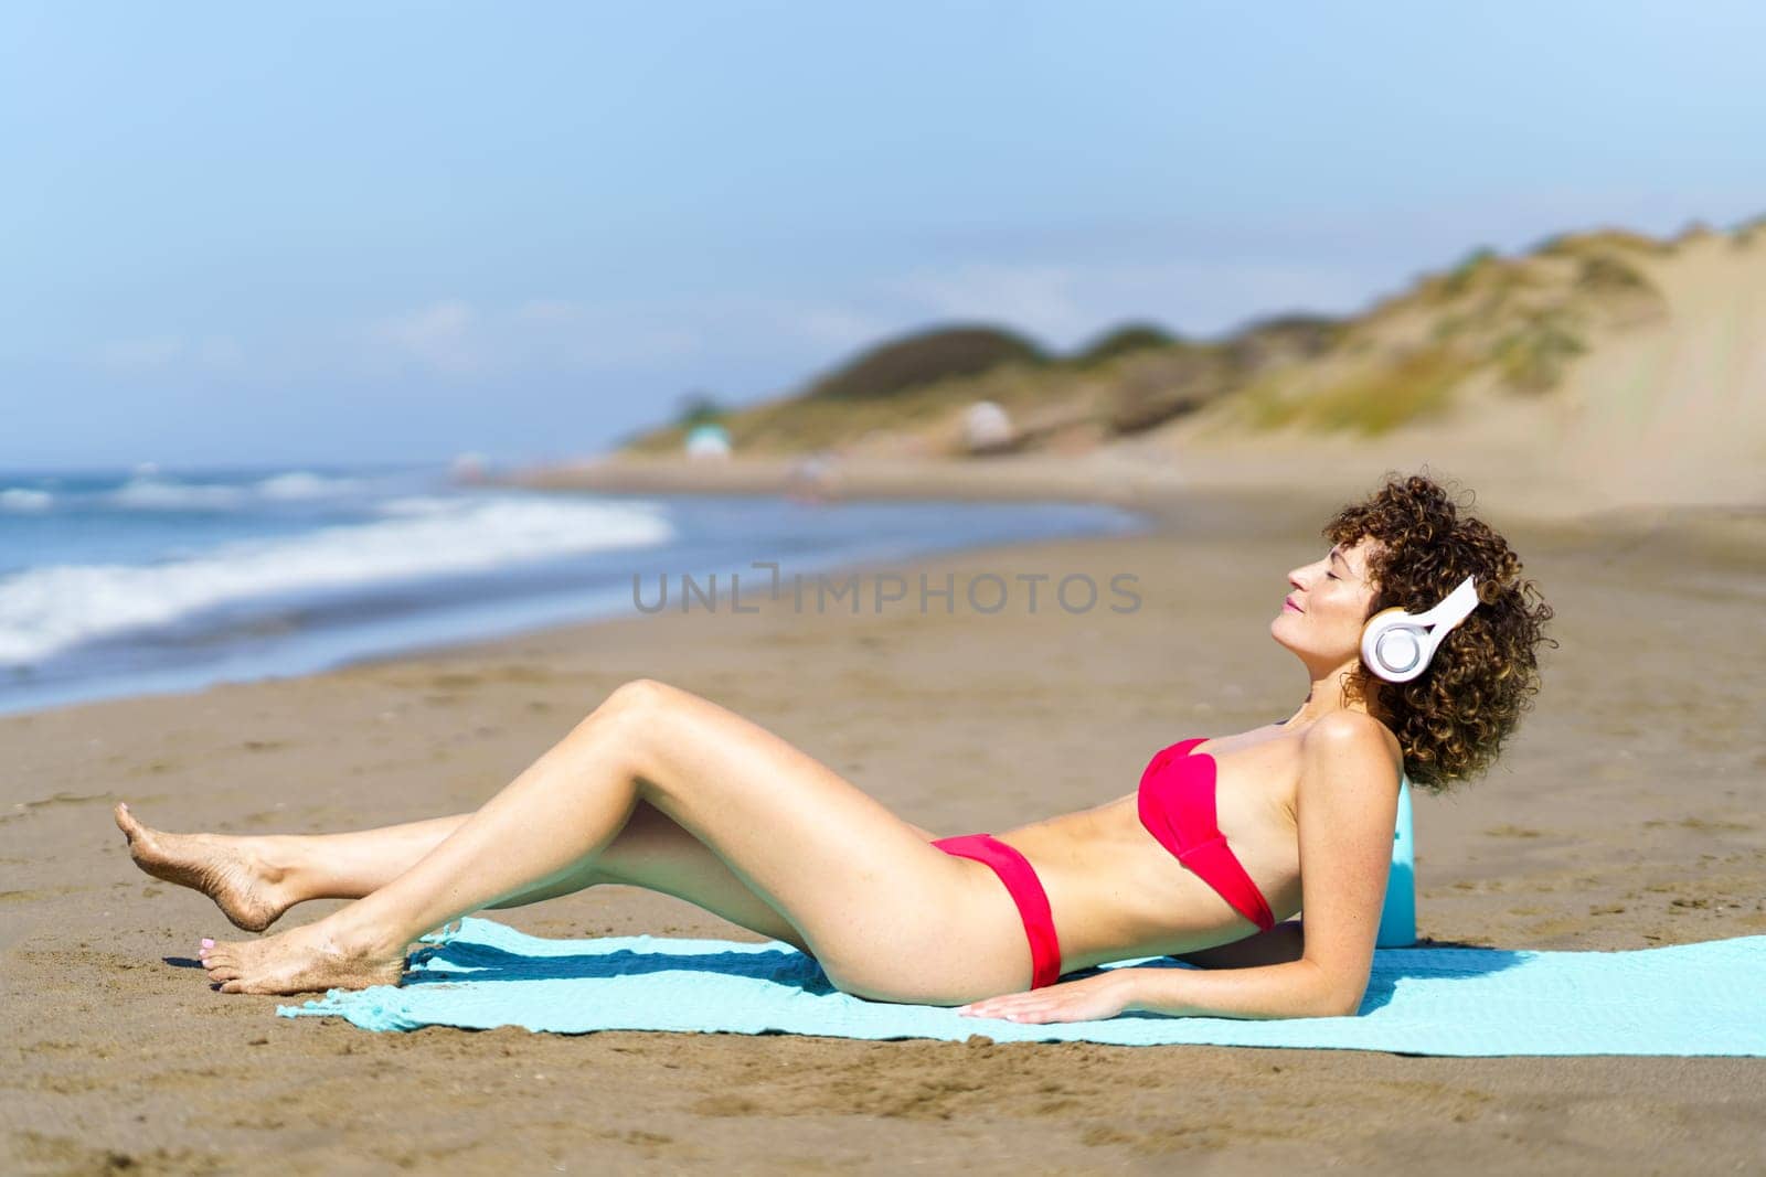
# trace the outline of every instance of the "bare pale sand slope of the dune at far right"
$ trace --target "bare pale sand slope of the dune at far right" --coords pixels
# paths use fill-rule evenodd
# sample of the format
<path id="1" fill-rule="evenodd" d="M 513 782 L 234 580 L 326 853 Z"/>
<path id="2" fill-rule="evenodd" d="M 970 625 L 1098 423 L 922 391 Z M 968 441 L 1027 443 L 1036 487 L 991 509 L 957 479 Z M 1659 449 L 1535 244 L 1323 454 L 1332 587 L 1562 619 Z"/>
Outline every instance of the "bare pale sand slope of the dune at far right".
<path id="1" fill-rule="evenodd" d="M 1121 445 L 1215 476 L 1234 464 L 1328 476 L 1335 466 L 1430 462 L 1552 514 L 1766 505 L 1766 233 L 1697 235 L 1671 251 L 1595 240 L 1623 251 L 1662 309 L 1591 316 L 1586 351 L 1543 394 L 1517 395 L 1480 369 L 1439 416 L 1372 438 L 1254 431 L 1240 404 L 1222 401 Z"/>

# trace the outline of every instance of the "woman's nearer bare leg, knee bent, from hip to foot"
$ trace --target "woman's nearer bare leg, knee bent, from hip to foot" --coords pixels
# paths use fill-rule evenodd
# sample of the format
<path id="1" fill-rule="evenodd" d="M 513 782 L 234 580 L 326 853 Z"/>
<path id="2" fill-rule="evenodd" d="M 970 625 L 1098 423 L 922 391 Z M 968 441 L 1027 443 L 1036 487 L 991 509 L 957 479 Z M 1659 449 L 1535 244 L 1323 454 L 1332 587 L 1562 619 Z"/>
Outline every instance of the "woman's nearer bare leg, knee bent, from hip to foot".
<path id="1" fill-rule="evenodd" d="M 210 976 L 228 992 L 396 981 L 404 948 L 424 932 L 569 886 L 639 801 L 706 843 L 830 976 L 848 978 L 846 988 L 913 986 L 934 955 L 947 965 L 943 988 L 975 988 L 957 976 L 964 967 L 1001 974 L 987 955 L 968 965 L 973 953 L 955 951 L 964 933 L 954 925 L 975 914 L 977 886 L 998 918 L 991 875 L 977 882 L 970 863 L 929 847 L 924 831 L 765 729 L 641 679 L 397 879 L 316 925 L 215 946 L 205 953 Z"/>

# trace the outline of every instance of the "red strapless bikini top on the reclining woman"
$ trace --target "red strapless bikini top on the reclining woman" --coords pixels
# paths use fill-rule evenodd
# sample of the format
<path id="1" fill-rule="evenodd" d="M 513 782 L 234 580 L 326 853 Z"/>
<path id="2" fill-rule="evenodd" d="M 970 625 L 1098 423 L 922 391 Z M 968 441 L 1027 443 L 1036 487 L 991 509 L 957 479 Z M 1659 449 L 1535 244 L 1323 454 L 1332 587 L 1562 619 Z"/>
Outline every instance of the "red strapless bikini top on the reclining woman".
<path id="1" fill-rule="evenodd" d="M 1141 773 L 1141 824 L 1245 919 L 1268 932 L 1275 926 L 1270 903 L 1215 824 L 1215 759 L 1206 752 L 1190 755 L 1206 739 L 1185 739 L 1153 755 Z"/>

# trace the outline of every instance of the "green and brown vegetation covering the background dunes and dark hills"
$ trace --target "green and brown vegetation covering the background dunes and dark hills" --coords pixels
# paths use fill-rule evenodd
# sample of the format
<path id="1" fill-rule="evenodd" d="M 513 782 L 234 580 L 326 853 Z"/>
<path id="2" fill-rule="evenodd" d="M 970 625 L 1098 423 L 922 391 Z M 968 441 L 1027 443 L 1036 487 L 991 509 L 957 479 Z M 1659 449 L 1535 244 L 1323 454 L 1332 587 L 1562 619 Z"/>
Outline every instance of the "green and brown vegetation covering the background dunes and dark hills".
<path id="1" fill-rule="evenodd" d="M 1743 245 L 1766 221 L 1738 226 Z M 1690 238 L 1685 238 L 1690 240 Z M 920 330 L 860 351 L 795 395 L 717 409 L 743 454 L 881 448 L 966 452 L 962 415 L 1003 408 L 1007 448 L 1095 445 L 1201 409 L 1224 429 L 1381 434 L 1450 413 L 1469 379 L 1521 395 L 1561 385 L 1604 330 L 1648 326 L 1667 302 L 1648 265 L 1672 245 L 1575 233 L 1505 258 L 1475 249 L 1355 319 L 1282 316 L 1189 341 L 1123 323 L 1070 356 L 1000 326 Z M 699 406 L 703 418 L 710 406 Z M 691 424 L 627 450 L 676 454 Z"/>

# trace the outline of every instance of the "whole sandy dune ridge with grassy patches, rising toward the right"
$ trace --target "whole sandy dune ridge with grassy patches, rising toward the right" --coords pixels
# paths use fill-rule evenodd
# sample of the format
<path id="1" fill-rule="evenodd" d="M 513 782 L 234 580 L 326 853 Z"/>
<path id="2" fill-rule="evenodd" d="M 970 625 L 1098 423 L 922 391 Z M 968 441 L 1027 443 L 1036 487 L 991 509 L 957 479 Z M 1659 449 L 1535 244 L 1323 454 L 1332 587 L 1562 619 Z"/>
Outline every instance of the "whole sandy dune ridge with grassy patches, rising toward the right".
<path id="1" fill-rule="evenodd" d="M 962 415 L 984 399 L 1010 409 L 1015 452 L 968 455 Z M 738 459 L 719 469 L 671 462 L 678 431 L 662 429 L 563 482 L 777 489 L 793 455 L 821 450 L 853 492 L 952 484 L 962 461 L 992 468 L 977 484 L 991 492 L 1091 480 L 1104 498 L 1151 482 L 1337 492 L 1427 462 L 1559 517 L 1766 505 L 1766 228 L 1565 236 L 1475 254 L 1337 325 L 1007 364 L 853 404 L 784 397 L 728 424 Z"/>

